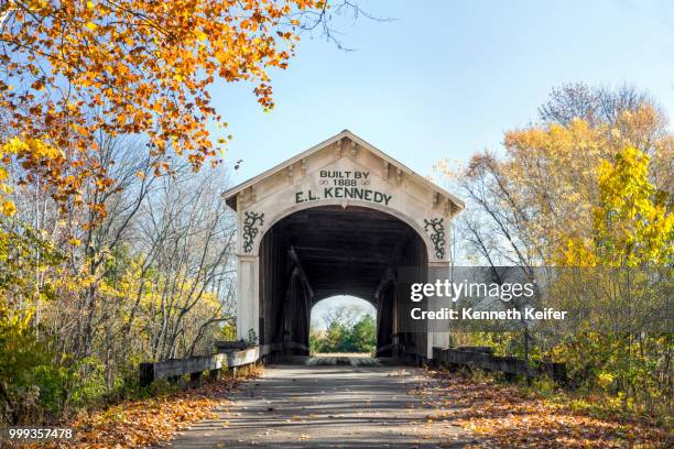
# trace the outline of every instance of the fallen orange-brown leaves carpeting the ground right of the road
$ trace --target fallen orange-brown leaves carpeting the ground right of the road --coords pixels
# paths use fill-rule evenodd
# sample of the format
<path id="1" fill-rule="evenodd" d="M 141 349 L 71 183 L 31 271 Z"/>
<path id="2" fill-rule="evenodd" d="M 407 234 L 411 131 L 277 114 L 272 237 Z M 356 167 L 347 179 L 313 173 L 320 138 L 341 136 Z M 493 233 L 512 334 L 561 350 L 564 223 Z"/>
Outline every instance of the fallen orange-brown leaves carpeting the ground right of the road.
<path id="1" fill-rule="evenodd" d="M 487 448 L 665 447 L 667 432 L 643 423 L 598 418 L 524 394 L 514 386 L 432 372 L 441 382 L 422 392 L 438 410 L 430 418 L 469 430 Z"/>

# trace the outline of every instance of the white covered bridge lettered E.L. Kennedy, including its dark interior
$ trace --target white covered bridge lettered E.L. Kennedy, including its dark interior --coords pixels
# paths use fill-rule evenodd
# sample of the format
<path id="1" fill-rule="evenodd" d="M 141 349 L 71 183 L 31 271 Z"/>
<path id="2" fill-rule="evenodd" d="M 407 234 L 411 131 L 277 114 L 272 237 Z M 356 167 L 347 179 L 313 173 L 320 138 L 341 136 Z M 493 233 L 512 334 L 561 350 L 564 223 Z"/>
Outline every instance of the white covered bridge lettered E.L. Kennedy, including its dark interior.
<path id="1" fill-rule="evenodd" d="M 401 331 L 401 267 L 427 282 L 449 264 L 463 202 L 349 131 L 225 193 L 237 212 L 239 338 L 263 352 L 308 351 L 314 304 L 352 295 L 377 309 L 381 355 L 424 360 L 444 347 L 420 322 Z M 413 331 L 411 331 L 413 330 Z"/>

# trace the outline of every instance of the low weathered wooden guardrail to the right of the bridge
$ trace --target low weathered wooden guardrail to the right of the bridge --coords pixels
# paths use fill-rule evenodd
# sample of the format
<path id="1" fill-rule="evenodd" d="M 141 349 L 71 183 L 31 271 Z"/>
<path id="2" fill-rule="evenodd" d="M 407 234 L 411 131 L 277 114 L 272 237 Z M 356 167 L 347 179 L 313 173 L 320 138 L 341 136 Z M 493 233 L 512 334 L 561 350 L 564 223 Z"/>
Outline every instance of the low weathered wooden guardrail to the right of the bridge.
<path id="1" fill-rule="evenodd" d="M 498 371 L 512 376 L 539 377 L 548 375 L 554 381 L 567 381 L 564 363 L 539 362 L 530 365 L 526 361 L 515 357 L 499 357 L 492 354 L 493 350 L 487 347 L 439 349 L 433 348 L 433 360 L 444 368 L 478 368 L 487 371 Z"/>

